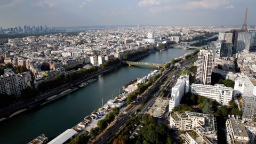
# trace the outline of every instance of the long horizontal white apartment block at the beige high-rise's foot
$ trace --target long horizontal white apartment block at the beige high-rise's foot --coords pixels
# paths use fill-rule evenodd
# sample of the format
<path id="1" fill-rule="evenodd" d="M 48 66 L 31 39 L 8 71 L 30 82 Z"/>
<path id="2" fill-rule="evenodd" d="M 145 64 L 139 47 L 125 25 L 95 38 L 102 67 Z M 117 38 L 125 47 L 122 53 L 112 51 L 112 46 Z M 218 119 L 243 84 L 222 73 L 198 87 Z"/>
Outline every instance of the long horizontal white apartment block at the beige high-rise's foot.
<path id="1" fill-rule="evenodd" d="M 228 102 L 232 99 L 233 96 L 233 88 L 226 87 L 223 84 L 191 84 L 190 92 L 192 94 L 201 95 L 206 98 L 216 100 L 221 105 L 228 105 Z"/>

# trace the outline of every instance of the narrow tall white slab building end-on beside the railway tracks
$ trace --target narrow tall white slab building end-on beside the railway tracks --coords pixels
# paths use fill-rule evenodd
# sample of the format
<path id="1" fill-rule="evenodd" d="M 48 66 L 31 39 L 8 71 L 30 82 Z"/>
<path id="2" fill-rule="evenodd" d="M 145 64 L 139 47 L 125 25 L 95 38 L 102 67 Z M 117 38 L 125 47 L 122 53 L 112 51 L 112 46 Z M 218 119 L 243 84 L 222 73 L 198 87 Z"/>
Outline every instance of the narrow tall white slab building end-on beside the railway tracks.
<path id="1" fill-rule="evenodd" d="M 180 104 L 180 101 L 189 89 L 189 76 L 182 75 L 177 79 L 177 83 L 172 87 L 172 94 L 169 101 L 169 111 Z"/>

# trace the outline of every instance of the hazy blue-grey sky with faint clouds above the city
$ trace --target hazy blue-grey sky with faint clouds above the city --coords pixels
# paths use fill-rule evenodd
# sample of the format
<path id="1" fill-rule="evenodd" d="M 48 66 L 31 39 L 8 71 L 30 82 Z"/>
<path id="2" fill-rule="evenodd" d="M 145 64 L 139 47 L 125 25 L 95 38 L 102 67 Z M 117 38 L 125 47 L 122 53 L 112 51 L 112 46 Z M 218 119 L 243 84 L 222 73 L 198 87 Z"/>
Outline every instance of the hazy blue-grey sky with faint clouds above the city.
<path id="1" fill-rule="evenodd" d="M 0 27 L 256 25 L 256 0 L 1 0 Z"/>

